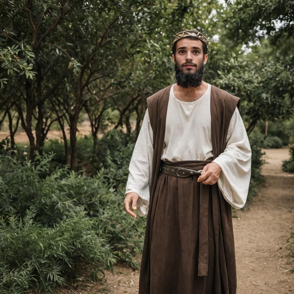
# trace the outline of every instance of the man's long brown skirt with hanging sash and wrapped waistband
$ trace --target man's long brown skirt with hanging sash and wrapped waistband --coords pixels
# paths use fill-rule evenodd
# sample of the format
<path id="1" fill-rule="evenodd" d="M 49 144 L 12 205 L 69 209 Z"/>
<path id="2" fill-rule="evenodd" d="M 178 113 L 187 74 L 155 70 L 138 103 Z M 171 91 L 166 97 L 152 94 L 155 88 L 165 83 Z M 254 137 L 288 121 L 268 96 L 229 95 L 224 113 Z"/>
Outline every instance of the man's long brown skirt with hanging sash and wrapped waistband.
<path id="1" fill-rule="evenodd" d="M 165 163 L 201 170 L 211 161 Z M 140 282 L 141 275 L 150 274 L 150 292 L 140 283 L 140 294 L 236 293 L 230 204 L 217 184 L 197 179 L 164 173 L 158 177 L 150 220 L 150 273 L 144 268 L 140 272 Z"/>

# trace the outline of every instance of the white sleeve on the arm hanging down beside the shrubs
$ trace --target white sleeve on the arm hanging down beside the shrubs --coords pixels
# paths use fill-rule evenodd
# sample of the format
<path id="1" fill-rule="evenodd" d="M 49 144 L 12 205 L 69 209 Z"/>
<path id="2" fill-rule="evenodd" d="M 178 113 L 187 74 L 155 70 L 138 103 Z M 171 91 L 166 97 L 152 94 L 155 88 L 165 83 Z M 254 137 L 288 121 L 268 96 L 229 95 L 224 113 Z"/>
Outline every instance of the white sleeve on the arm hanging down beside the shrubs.
<path id="1" fill-rule="evenodd" d="M 136 192 L 137 214 L 146 216 L 149 207 L 149 185 L 152 172 L 153 159 L 153 132 L 150 125 L 148 109 L 143 118 L 143 123 L 134 147 L 129 165 L 129 175 L 126 184 L 126 193 Z"/>

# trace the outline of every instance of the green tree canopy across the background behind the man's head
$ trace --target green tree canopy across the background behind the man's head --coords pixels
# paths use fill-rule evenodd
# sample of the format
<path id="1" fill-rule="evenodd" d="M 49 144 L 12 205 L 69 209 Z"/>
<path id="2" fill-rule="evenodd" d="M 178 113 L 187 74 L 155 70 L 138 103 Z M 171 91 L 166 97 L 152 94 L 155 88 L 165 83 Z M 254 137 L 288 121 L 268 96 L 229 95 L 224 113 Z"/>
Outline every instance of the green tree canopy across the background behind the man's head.
<path id="1" fill-rule="evenodd" d="M 1 4 L 0 106 L 20 121 L 31 159 L 42 154 L 54 123 L 76 170 L 78 121 L 140 129 L 146 98 L 173 82 L 172 35 L 196 28 L 208 36 L 205 80 L 240 96 L 248 132 L 260 119 L 293 113 L 291 1 L 4 1 Z M 288 46 L 288 47 L 287 47 Z M 250 52 L 251 51 L 251 52 Z M 66 126 L 70 129 L 67 142 Z"/>

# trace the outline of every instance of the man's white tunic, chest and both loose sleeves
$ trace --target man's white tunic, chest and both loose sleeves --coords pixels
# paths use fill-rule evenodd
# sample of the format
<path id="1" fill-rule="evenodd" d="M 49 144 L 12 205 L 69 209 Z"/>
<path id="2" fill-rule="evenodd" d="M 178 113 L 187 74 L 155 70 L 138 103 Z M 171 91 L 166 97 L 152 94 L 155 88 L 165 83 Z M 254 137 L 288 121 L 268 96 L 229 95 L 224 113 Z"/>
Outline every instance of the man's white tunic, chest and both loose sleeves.
<path id="1" fill-rule="evenodd" d="M 207 160 L 213 156 L 211 143 L 211 85 L 196 101 L 178 100 L 171 87 L 166 114 L 165 161 Z M 251 149 L 244 123 L 236 107 L 230 121 L 226 148 L 213 162 L 221 168 L 218 187 L 225 200 L 235 208 L 245 205 L 251 175 Z M 153 158 L 153 131 L 146 110 L 136 141 L 126 185 L 126 193 L 139 195 L 137 213 L 147 215 Z"/>

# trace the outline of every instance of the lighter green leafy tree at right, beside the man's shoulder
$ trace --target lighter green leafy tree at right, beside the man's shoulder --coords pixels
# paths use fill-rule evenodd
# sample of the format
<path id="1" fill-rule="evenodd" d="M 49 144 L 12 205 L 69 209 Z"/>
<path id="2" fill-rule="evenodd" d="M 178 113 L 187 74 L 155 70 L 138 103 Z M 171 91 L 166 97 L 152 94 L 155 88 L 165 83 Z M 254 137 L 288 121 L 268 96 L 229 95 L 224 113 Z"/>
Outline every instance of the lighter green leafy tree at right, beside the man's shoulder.
<path id="1" fill-rule="evenodd" d="M 235 56 L 230 60 L 233 69 L 219 73 L 216 81 L 243 100 L 241 113 L 248 121 L 246 130 L 250 133 L 261 119 L 285 120 L 293 114 L 294 56 L 283 61 L 248 59 Z"/>

